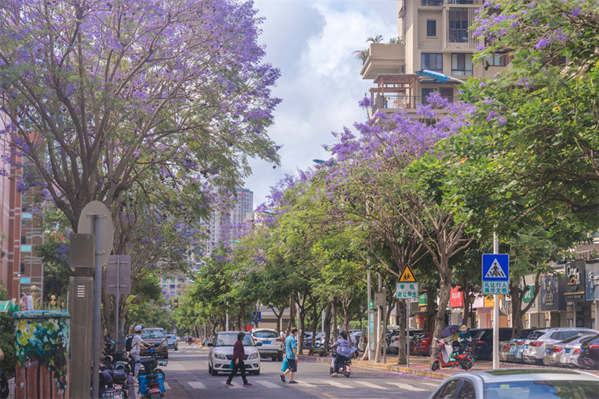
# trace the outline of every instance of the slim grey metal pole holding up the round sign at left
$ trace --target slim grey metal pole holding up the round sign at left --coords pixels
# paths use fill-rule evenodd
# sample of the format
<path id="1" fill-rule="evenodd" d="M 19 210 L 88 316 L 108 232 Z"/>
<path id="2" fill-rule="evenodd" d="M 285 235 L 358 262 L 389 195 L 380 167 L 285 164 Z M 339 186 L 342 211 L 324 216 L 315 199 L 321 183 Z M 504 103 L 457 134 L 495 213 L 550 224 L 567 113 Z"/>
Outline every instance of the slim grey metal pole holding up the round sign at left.
<path id="1" fill-rule="evenodd" d="M 101 293 L 102 293 L 102 215 L 90 215 L 94 220 L 94 237 L 96 238 L 95 274 L 94 274 L 94 321 L 92 331 L 92 398 L 99 398 L 100 371 L 100 330 L 101 330 Z"/>

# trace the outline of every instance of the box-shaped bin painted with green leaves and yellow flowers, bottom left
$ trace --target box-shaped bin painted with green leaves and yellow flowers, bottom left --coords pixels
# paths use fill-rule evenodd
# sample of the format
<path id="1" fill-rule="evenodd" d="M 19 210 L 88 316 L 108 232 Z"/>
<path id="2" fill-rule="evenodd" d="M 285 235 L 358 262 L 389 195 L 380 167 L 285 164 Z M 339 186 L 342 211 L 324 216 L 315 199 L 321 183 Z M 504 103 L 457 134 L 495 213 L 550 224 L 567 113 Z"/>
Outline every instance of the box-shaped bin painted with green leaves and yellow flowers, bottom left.
<path id="1" fill-rule="evenodd" d="M 14 312 L 16 398 L 69 398 L 69 315 L 61 310 Z"/>

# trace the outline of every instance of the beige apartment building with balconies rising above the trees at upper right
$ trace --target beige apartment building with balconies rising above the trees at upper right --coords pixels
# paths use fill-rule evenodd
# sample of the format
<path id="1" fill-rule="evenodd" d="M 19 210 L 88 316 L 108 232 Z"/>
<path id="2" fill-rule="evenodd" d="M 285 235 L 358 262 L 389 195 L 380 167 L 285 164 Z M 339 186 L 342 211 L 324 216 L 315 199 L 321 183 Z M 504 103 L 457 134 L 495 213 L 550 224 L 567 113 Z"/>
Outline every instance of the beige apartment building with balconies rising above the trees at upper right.
<path id="1" fill-rule="evenodd" d="M 503 54 L 494 54 L 482 64 L 473 62 L 481 39 L 469 26 L 483 0 L 397 1 L 397 43 L 373 43 L 360 74 L 373 80 L 372 111 L 415 111 L 431 92 L 453 99 L 457 81 L 440 82 L 420 77 L 417 70 L 433 70 L 458 80 L 470 76 L 490 78 L 507 65 Z"/>

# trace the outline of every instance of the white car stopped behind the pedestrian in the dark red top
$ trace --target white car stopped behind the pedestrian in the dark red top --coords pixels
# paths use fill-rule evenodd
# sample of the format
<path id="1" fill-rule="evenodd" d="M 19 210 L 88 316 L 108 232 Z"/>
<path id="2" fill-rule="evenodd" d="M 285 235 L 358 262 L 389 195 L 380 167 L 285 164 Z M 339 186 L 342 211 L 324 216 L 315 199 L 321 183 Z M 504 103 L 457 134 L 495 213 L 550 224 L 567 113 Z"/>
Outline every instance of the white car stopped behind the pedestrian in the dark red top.
<path id="1" fill-rule="evenodd" d="M 233 345 L 237 341 L 237 334 L 240 331 L 221 331 L 216 333 L 214 341 L 208 343 L 210 348 L 208 355 L 208 372 L 216 376 L 218 372 L 230 373 L 231 360 L 233 359 Z M 243 350 L 245 357 L 245 371 L 249 374 L 260 374 L 260 354 L 258 348 L 261 343 L 254 344 L 254 340 L 249 333 L 245 333 L 243 338 Z"/>

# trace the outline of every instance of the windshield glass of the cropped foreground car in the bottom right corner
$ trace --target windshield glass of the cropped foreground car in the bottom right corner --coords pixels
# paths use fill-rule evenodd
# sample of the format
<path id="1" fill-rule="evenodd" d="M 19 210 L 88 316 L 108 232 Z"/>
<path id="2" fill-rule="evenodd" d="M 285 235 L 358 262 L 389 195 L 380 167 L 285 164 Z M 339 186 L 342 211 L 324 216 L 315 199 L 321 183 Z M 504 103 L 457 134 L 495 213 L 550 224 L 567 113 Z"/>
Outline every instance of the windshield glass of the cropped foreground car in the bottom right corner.
<path id="1" fill-rule="evenodd" d="M 586 399 L 595 398 L 599 381 L 517 381 L 485 384 L 485 398 Z"/>

